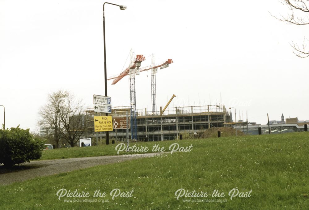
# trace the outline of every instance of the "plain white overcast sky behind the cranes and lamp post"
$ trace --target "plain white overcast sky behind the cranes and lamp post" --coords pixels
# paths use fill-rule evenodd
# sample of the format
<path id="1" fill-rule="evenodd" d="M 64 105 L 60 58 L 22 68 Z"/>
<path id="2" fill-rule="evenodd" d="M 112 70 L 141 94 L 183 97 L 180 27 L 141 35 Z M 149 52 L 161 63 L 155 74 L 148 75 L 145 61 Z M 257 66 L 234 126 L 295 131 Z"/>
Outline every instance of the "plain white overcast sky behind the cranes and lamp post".
<path id="1" fill-rule="evenodd" d="M 308 62 L 289 43 L 302 43 L 306 26 L 282 23 L 276 0 L 111 1 L 105 5 L 108 76 L 121 72 L 133 48 L 159 70 L 157 108 L 220 103 L 248 120 L 298 117 L 309 120 Z M 256 3 L 258 2 L 258 3 Z M 0 0 L 0 105 L 6 127 L 38 130 L 38 109 L 46 96 L 69 90 L 91 107 L 104 95 L 103 1 Z M 127 67 L 126 64 L 125 67 Z M 108 82 L 113 106 L 128 106 L 129 78 Z M 234 101 L 234 102 L 233 102 Z M 151 110 L 150 72 L 136 77 L 137 109 Z M 247 104 L 247 106 L 244 106 Z M 234 113 L 234 112 L 233 112 Z M 234 119 L 234 115 L 233 115 Z M 0 123 L 3 108 L 0 107 Z"/>

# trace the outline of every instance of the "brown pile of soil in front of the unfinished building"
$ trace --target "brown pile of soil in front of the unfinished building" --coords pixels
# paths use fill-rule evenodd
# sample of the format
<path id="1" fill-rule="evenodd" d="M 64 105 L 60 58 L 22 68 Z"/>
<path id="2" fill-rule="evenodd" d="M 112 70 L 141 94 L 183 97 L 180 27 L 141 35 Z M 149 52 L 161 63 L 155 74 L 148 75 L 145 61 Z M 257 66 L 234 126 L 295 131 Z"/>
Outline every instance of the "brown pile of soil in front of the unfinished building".
<path id="1" fill-rule="evenodd" d="M 236 136 L 235 128 L 231 127 L 212 127 L 209 129 L 206 129 L 204 133 L 200 135 L 200 138 L 213 138 L 218 137 L 218 131 L 221 131 L 221 137 L 227 137 L 227 136 Z M 237 130 L 238 136 L 245 135 L 242 131 Z"/>

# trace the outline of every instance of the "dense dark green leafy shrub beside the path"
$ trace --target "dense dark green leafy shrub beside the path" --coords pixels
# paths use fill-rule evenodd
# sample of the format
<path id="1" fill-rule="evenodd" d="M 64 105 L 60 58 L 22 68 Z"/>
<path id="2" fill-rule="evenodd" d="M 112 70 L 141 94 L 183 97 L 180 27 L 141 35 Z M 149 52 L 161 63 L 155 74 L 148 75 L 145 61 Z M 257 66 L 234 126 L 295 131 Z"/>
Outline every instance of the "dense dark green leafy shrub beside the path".
<path id="1" fill-rule="evenodd" d="M 29 129 L 18 127 L 0 130 L 0 164 L 11 167 L 15 164 L 40 159 L 44 142 L 33 138 Z"/>

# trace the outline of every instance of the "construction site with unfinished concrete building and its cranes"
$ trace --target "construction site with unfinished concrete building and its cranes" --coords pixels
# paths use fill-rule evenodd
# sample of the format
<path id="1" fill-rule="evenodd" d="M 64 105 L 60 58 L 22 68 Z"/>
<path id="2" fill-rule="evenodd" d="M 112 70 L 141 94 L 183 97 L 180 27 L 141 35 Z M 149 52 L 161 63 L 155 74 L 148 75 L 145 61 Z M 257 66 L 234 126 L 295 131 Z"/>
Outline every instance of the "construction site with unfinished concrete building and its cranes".
<path id="1" fill-rule="evenodd" d="M 156 74 L 158 69 L 169 67 L 173 63 L 172 59 L 155 64 L 154 56 L 152 56 L 151 65 L 141 67 L 141 63 L 145 57 L 141 54 L 134 55 L 132 49 L 130 51 L 130 64 L 119 75 L 111 76 L 107 80 L 112 81 L 115 85 L 125 76 L 129 76 L 130 87 L 130 106 L 129 107 L 113 107 L 112 112 L 108 115 L 113 117 L 129 117 L 129 131 L 126 129 L 114 129 L 109 131 L 111 138 L 123 140 L 129 139 L 143 141 L 163 141 L 180 139 L 181 133 L 190 133 L 198 135 L 210 127 L 227 126 L 227 122 L 231 122 L 231 114 L 227 112 L 224 105 L 203 105 L 203 106 L 183 106 L 169 107 L 171 101 L 176 95 L 173 95 L 164 108 L 157 110 L 156 95 Z M 135 75 L 139 75 L 143 71 L 151 71 L 151 110 L 136 108 L 136 91 L 135 91 Z M 95 112 L 94 109 L 86 110 L 90 116 L 89 133 L 96 136 L 97 139 L 105 138 L 105 132 L 94 132 L 94 116 L 103 116 L 104 113 Z"/>

